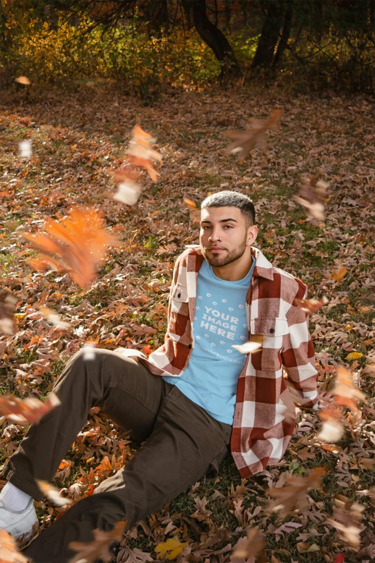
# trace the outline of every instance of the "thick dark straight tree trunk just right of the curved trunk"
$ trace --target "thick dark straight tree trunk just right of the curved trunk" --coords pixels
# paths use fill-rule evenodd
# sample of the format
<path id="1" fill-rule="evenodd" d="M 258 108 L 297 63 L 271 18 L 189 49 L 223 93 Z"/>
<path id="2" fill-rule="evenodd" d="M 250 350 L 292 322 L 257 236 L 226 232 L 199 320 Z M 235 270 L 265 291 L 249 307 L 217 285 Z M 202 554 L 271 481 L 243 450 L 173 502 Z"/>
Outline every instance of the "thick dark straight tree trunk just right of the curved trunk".
<path id="1" fill-rule="evenodd" d="M 282 23 L 283 0 L 270 0 L 266 19 L 256 47 L 252 67 L 271 66 Z"/>

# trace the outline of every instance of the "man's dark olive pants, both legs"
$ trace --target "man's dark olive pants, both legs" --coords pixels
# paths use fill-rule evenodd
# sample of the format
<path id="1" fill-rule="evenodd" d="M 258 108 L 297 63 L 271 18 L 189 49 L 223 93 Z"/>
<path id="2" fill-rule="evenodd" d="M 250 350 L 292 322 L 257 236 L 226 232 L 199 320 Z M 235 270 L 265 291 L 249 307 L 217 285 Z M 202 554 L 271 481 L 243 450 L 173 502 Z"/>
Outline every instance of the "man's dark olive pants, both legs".
<path id="1" fill-rule="evenodd" d="M 35 479 L 53 479 L 93 406 L 144 443 L 125 467 L 22 551 L 34 563 L 66 563 L 74 556 L 67 544 L 92 541 L 94 528 L 111 530 L 119 520 L 127 520 L 130 528 L 217 471 L 229 451 L 231 426 L 216 421 L 137 361 L 115 352 L 96 350 L 91 360 L 78 352 L 53 391 L 61 405 L 29 427 L 4 470 L 6 479 L 38 501 L 43 493 Z"/>

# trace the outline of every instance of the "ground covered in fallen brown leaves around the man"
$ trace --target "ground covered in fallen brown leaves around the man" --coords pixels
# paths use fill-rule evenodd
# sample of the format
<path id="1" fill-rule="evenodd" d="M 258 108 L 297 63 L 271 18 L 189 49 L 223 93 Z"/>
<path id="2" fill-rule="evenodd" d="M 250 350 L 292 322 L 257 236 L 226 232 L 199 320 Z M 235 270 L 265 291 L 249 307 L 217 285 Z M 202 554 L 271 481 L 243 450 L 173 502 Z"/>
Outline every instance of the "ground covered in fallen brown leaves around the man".
<path id="1" fill-rule="evenodd" d="M 257 245 L 266 257 L 304 280 L 309 297 L 329 299 L 310 315 L 320 389 L 332 385 L 335 366 L 343 364 L 367 395 L 362 419 L 355 423 L 349 415 L 345 437 L 336 445 L 317 443 L 319 419 L 302 412 L 278 466 L 241 482 L 232 460 L 225 460 L 217 479 L 196 484 L 130 530 L 131 551 L 117 550 L 118 562 L 149 560 L 146 553 L 156 559 L 157 544 L 174 537 L 188 543 L 181 561 L 234 561 L 231 547 L 249 526 L 263 530 L 267 561 L 272 555 L 285 562 L 335 561 L 339 553 L 348 563 L 372 560 L 375 502 L 361 491 L 368 491 L 375 477 L 374 372 L 369 368 L 375 360 L 373 103 L 353 95 L 291 98 L 245 90 L 165 96 L 147 107 L 116 92 L 63 97 L 51 92 L 43 101 L 18 96 L 5 96 L 0 105 L 1 286 L 20 300 L 16 333 L 0 336 L 2 393 L 45 397 L 85 342 L 147 354 L 159 346 L 174 259 L 186 244 L 198 241 L 182 197 L 200 202 L 209 192 L 237 189 L 254 200 Z M 269 134 L 266 150 L 252 150 L 240 164 L 225 155 L 225 129 L 245 128 L 250 117 L 265 118 L 277 108 L 283 112 L 280 126 Z M 144 176 L 141 199 L 128 207 L 110 198 L 109 172 L 123 161 L 137 122 L 157 138 L 163 165 L 159 182 Z M 19 156 L 18 143 L 25 139 L 33 145 L 29 159 Z M 330 183 L 325 222 L 306 216 L 292 199 L 301 176 L 314 172 Z M 32 270 L 27 261 L 35 251 L 21 236 L 39 231 L 47 217 L 66 215 L 74 204 L 100 209 L 121 241 L 89 289 L 78 287 L 65 272 Z M 58 312 L 70 328 L 53 328 L 41 305 Z M 351 352 L 358 354 L 348 358 Z M 0 422 L 3 464 L 26 428 L 5 417 Z M 121 428 L 93 408 L 53 484 L 60 489 L 76 484 L 69 494 L 79 498 L 136 449 Z M 329 472 L 322 488 L 310 491 L 308 509 L 284 520 L 266 514 L 268 486 L 281 487 L 288 475 L 304 475 L 317 466 Z M 365 505 L 359 551 L 324 523 L 336 494 Z M 62 510 L 48 501 L 35 504 L 42 529 Z"/>

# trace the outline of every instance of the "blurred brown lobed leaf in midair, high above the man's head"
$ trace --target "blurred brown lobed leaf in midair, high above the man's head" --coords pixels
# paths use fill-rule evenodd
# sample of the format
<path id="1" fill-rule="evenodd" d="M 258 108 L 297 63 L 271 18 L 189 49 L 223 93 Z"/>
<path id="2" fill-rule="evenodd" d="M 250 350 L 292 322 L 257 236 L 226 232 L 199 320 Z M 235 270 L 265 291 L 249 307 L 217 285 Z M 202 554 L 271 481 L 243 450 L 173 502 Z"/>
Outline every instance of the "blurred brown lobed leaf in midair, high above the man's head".
<path id="1" fill-rule="evenodd" d="M 265 148 L 265 132 L 267 129 L 275 129 L 282 111 L 276 109 L 267 119 L 249 119 L 249 127 L 245 131 L 232 131 L 228 129 L 225 135 L 233 140 L 228 146 L 227 154 L 236 154 L 238 160 L 246 158 L 252 147 Z"/>

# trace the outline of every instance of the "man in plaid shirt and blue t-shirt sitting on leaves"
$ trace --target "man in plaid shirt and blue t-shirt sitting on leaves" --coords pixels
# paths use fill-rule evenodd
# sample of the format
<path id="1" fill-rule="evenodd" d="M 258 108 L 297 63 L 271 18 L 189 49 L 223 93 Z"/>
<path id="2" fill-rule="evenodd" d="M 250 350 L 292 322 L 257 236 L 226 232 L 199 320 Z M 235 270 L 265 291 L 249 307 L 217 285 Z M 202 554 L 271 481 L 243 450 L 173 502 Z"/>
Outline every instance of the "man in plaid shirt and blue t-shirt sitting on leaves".
<path id="1" fill-rule="evenodd" d="M 94 405 L 143 443 L 24 550 L 35 563 L 65 563 L 74 555 L 67 544 L 90 542 L 94 528 L 133 526 L 217 475 L 229 451 L 242 477 L 278 463 L 294 427 L 283 414 L 287 386 L 302 406 L 318 402 L 308 316 L 292 304 L 306 297 L 306 285 L 252 246 L 249 197 L 220 191 L 201 207 L 200 246 L 175 263 L 164 345 L 148 359 L 124 349 L 75 354 L 53 388 L 61 405 L 30 426 L 8 461 L 0 526 L 17 537 L 36 521 L 33 498 L 43 493 L 35 479 L 53 479 Z M 263 347 L 233 347 L 249 340 Z"/>

